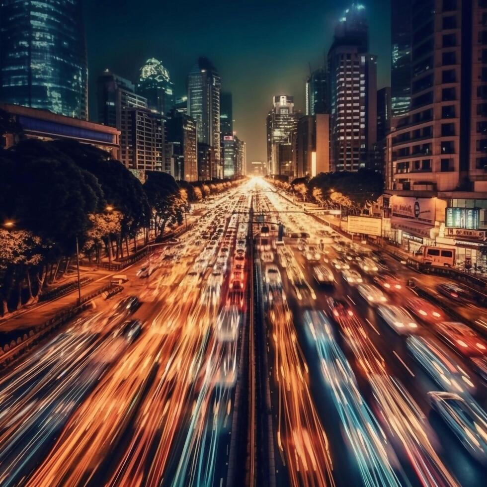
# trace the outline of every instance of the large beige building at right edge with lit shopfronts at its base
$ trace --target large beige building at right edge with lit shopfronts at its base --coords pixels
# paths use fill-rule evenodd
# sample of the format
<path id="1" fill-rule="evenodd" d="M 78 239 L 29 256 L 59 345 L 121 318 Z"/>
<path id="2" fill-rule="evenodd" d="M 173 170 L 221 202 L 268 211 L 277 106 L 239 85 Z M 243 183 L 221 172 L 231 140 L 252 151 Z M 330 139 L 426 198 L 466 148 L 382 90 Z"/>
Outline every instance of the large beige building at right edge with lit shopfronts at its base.
<path id="1" fill-rule="evenodd" d="M 411 9 L 410 109 L 387 137 L 389 237 L 485 265 L 487 3 L 413 0 Z"/>

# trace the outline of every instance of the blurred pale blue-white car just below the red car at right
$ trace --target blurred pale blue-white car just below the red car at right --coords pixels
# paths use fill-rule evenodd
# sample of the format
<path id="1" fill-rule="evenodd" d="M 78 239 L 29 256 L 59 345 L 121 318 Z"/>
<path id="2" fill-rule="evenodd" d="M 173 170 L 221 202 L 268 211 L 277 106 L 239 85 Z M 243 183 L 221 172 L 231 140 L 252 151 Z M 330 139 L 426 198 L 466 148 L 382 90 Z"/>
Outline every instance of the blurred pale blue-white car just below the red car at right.
<path id="1" fill-rule="evenodd" d="M 443 350 L 432 338 L 411 335 L 406 348 L 431 379 L 444 391 L 472 393 L 475 385 L 455 357 Z"/>

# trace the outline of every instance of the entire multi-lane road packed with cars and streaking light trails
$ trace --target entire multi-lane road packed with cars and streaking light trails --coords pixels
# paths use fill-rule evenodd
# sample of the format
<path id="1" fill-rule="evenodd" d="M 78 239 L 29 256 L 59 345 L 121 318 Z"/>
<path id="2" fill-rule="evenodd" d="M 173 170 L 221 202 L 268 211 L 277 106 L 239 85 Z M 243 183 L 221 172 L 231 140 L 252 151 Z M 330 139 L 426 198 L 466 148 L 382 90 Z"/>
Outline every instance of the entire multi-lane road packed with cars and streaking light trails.
<path id="1" fill-rule="evenodd" d="M 485 310 L 406 286 L 445 281 L 260 178 L 126 273 L 0 372 L 0 486 L 484 485 L 486 341 L 442 324 Z"/>

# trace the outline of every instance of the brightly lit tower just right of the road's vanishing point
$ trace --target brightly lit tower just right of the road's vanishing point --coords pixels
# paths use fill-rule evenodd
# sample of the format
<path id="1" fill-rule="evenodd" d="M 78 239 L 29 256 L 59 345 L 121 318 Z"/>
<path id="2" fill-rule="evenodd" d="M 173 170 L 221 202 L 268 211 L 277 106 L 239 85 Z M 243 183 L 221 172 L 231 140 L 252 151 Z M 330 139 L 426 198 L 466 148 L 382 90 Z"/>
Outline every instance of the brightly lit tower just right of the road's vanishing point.
<path id="1" fill-rule="evenodd" d="M 294 111 L 294 98 L 288 95 L 274 96 L 273 107 L 269 111 L 266 121 L 268 174 L 289 172 L 291 168 L 288 167 L 288 162 L 291 160 L 291 134 L 296 129 L 297 119 L 297 113 Z M 289 146 L 289 154 L 285 147 L 280 146 Z"/>

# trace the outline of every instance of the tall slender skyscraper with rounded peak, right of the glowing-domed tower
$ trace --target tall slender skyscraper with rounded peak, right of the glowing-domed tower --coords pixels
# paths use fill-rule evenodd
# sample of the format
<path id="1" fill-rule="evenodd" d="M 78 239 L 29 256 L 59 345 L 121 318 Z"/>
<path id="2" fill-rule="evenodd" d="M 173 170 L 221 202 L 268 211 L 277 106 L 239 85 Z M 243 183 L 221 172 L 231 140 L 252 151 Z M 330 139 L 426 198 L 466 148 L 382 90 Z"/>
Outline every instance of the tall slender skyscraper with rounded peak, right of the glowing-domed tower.
<path id="1" fill-rule="evenodd" d="M 188 115 L 196 120 L 198 143 L 214 150 L 211 177 L 222 177 L 220 160 L 220 75 L 207 58 L 198 61 L 188 75 Z"/>

